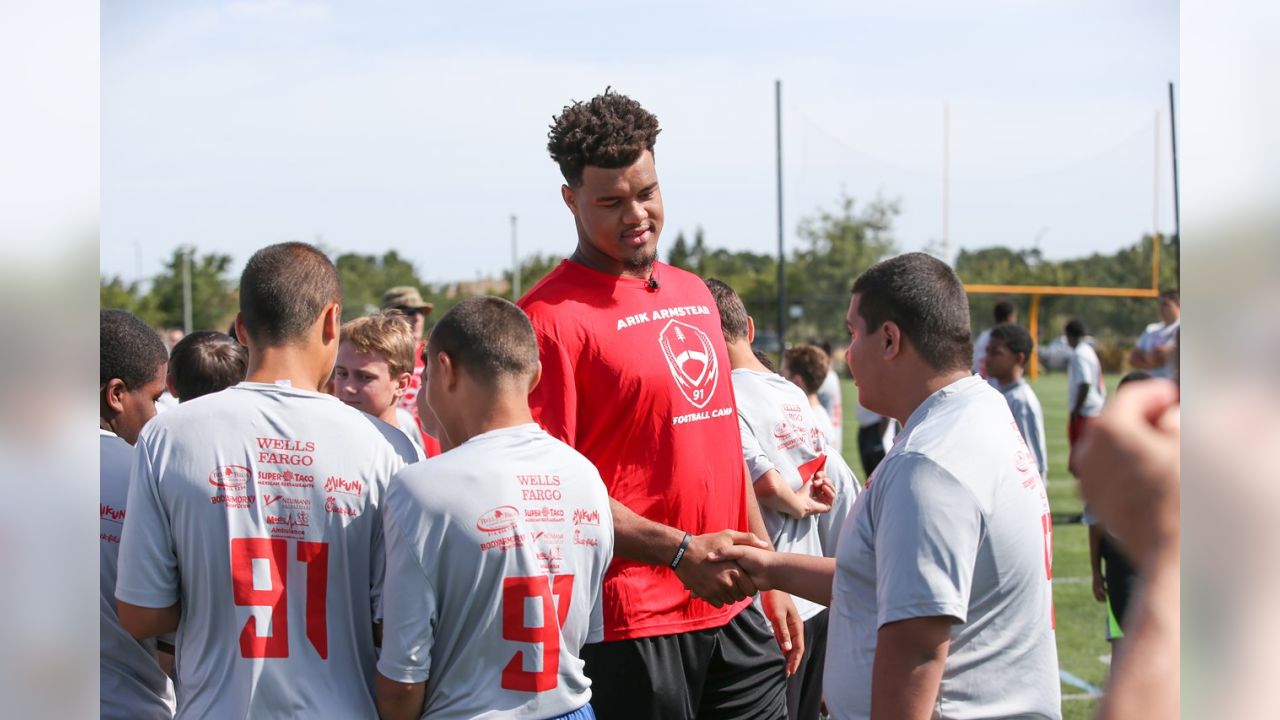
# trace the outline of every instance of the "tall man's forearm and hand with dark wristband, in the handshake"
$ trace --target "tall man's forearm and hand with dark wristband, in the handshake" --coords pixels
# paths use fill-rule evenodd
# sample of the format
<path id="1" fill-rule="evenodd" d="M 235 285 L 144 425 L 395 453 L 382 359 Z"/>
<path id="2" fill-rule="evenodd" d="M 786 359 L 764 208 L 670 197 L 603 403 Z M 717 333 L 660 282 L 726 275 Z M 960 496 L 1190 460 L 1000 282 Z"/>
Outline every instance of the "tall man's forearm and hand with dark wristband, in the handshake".
<path id="1" fill-rule="evenodd" d="M 609 498 L 609 511 L 613 512 L 613 552 L 649 565 L 671 566 L 685 532 L 662 523 L 655 523 L 636 514 L 617 500 Z M 689 588 L 689 592 L 721 607 L 755 594 L 755 585 L 740 569 L 731 565 L 709 562 L 707 556 L 721 547 L 735 542 L 762 543 L 758 537 L 737 530 L 721 530 L 692 536 L 689 547 L 676 565 L 676 577 Z"/>

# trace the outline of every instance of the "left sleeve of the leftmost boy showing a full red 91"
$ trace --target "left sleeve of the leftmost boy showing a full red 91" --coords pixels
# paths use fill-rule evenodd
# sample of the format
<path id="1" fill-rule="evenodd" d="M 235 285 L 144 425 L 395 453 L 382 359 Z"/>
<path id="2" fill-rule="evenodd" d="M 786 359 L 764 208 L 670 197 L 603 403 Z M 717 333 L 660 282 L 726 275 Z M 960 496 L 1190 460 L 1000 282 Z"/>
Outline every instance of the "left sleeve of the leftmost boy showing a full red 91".
<path id="1" fill-rule="evenodd" d="M 133 452 L 115 597 L 138 607 L 169 607 L 178 602 L 178 582 L 169 512 L 160 500 L 148 437 L 143 434 Z"/>

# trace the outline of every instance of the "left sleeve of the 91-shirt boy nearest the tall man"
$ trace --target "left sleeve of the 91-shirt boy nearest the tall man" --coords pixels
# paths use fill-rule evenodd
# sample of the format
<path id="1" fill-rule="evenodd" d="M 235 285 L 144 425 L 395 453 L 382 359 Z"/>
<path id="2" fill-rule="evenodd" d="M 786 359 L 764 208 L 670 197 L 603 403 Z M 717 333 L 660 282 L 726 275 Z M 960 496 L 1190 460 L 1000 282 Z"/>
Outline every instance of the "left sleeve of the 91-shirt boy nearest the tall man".
<path id="1" fill-rule="evenodd" d="M 383 651 L 378 671 L 397 683 L 424 683 L 431 671 L 431 644 L 435 642 L 435 588 L 422 568 L 420 541 L 397 521 L 396 507 L 410 505 L 396 496 L 397 483 L 388 491 L 388 511 L 383 515 L 387 543 L 387 578 L 383 587 Z"/>

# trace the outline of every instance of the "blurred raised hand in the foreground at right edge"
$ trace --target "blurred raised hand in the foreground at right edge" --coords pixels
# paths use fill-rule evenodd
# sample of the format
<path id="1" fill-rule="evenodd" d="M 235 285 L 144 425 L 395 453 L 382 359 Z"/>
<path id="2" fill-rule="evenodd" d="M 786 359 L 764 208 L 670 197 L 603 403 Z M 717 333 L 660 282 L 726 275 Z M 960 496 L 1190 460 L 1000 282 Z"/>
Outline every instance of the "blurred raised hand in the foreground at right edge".
<path id="1" fill-rule="evenodd" d="M 1178 546 L 1180 434 L 1176 386 L 1146 380 L 1116 393 L 1075 454 L 1084 498 L 1139 566 Z"/>

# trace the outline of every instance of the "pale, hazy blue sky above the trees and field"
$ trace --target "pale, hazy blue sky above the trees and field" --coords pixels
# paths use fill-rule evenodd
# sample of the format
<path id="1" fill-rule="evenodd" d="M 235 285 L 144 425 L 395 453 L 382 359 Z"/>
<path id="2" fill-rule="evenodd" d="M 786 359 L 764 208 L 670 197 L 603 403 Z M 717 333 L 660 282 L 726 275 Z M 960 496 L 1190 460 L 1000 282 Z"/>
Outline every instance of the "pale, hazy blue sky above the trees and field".
<path id="1" fill-rule="evenodd" d="M 945 137 L 952 255 L 1174 229 L 1175 3 L 143 0 L 101 23 L 100 265 L 127 281 L 287 240 L 493 277 L 512 215 L 521 256 L 568 255 L 547 129 L 607 86 L 663 128 L 660 251 L 699 227 L 776 251 L 774 81 L 788 249 L 842 193 L 941 247 Z"/>

